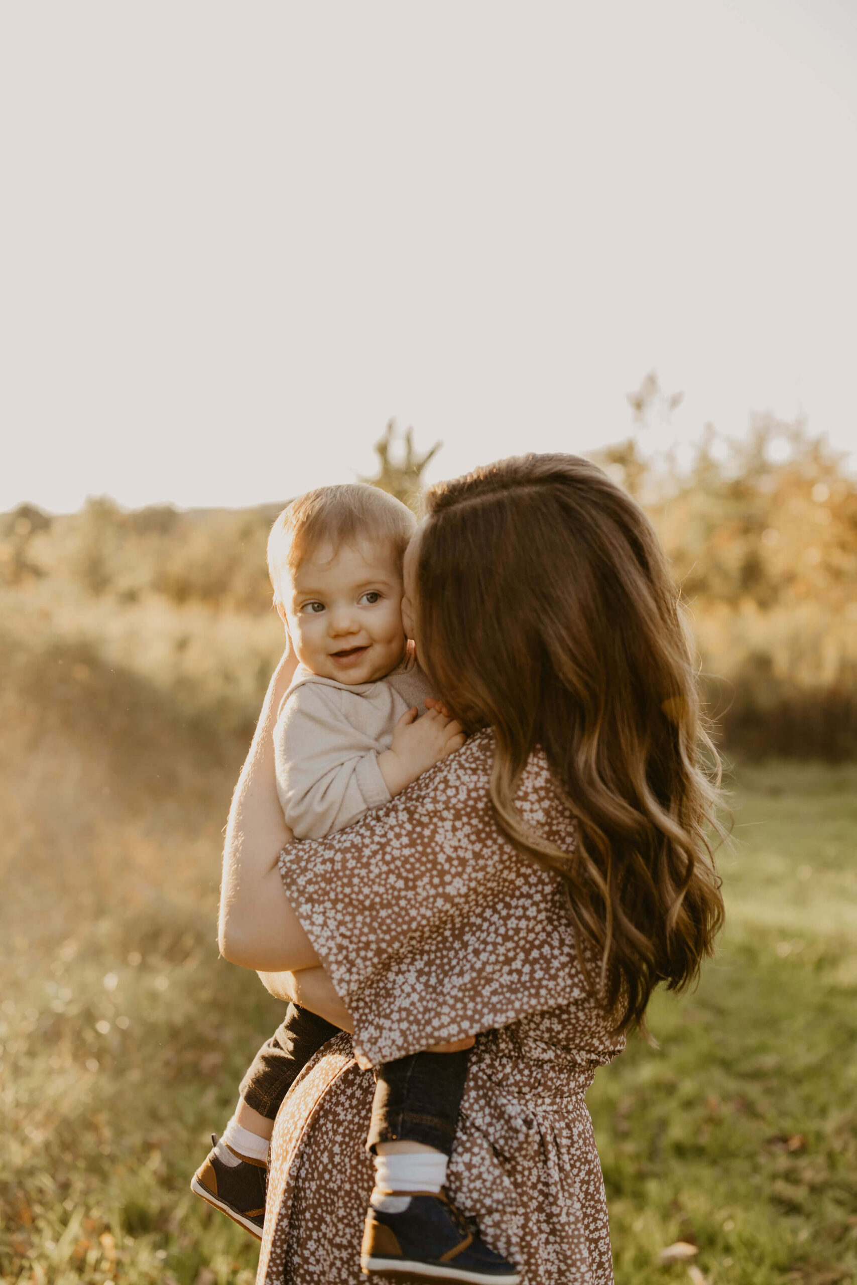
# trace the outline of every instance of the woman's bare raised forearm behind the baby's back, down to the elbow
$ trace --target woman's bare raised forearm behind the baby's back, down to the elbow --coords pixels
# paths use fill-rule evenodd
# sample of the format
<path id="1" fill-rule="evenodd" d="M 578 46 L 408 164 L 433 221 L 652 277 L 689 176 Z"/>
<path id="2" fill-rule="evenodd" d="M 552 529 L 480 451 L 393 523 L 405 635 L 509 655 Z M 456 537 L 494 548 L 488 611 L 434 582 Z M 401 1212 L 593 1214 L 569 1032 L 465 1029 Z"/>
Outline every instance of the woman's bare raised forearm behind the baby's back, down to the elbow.
<path id="1" fill-rule="evenodd" d="M 276 712 L 296 666 L 294 657 L 287 653 L 269 684 L 229 810 L 220 889 L 221 955 L 233 964 L 269 973 L 319 964 L 278 870 L 278 857 L 292 834 L 276 793 L 272 738 Z"/>

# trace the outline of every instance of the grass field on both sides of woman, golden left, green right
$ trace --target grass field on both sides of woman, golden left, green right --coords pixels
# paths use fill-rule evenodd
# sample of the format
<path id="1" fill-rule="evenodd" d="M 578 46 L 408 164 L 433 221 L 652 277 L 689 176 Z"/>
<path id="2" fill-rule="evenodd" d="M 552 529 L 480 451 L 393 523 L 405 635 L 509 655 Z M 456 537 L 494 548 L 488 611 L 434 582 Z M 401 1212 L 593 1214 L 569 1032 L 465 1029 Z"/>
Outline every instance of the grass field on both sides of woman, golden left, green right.
<path id="1" fill-rule="evenodd" d="M 0 1279 L 248 1285 L 188 1190 L 279 1013 L 215 942 L 244 743 L 75 646 L 0 660 Z M 734 789 L 720 953 L 590 1095 L 618 1285 L 690 1280 L 676 1240 L 708 1285 L 857 1281 L 857 767 Z"/>

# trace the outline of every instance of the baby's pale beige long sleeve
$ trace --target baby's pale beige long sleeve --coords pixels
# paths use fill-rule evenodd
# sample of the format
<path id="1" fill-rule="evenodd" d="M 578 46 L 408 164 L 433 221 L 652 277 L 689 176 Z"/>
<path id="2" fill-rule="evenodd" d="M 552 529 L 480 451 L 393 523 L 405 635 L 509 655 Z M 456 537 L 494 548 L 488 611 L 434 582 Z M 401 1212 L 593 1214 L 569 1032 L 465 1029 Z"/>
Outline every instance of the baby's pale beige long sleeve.
<path id="1" fill-rule="evenodd" d="M 296 839 L 321 839 L 389 803 L 375 744 L 344 718 L 335 687 L 306 682 L 287 695 L 274 729 L 274 759 Z"/>

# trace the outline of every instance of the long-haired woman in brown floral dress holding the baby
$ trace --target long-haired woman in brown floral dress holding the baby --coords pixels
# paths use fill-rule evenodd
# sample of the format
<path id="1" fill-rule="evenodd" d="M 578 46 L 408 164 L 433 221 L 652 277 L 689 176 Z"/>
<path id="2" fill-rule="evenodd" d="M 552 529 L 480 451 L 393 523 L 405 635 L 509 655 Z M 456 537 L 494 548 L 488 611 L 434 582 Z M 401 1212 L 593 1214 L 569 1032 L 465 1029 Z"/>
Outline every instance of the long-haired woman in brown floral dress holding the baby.
<path id="1" fill-rule="evenodd" d="M 258 1280 L 364 1279 L 369 1068 L 475 1036 L 451 1196 L 528 1285 L 605 1285 L 583 1095 L 722 920 L 678 594 L 640 508 L 574 456 L 479 469 L 427 510 L 402 609 L 470 739 L 348 830 L 285 847 L 283 662 L 230 812 L 224 955 L 352 1032 L 278 1118 Z"/>

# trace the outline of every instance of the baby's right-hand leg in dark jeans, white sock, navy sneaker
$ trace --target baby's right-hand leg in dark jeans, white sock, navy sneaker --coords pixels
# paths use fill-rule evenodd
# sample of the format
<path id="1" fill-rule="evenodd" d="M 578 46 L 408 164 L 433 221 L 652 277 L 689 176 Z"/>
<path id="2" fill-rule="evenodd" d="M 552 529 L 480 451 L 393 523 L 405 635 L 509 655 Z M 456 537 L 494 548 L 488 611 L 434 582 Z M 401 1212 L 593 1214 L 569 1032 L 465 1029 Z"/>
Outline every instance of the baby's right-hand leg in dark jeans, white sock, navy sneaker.
<path id="1" fill-rule="evenodd" d="M 487 1245 L 443 1192 L 468 1074 L 469 1049 L 418 1052 L 378 1067 L 366 1146 L 375 1153 L 360 1262 L 380 1277 L 518 1285 L 513 1263 Z"/>

